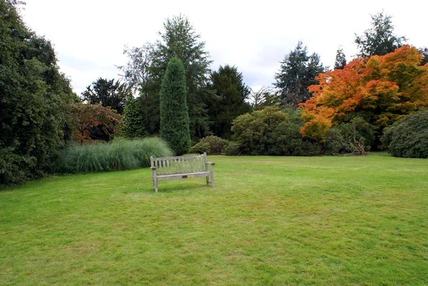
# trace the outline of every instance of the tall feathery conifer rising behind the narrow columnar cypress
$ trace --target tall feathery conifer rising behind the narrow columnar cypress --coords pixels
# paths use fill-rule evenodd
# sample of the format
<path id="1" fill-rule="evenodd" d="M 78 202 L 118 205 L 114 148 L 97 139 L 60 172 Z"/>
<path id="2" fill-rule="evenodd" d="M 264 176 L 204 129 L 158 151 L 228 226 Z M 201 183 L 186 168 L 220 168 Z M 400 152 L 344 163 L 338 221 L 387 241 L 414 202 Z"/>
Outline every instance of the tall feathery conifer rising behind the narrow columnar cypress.
<path id="1" fill-rule="evenodd" d="M 160 32 L 161 40 L 153 48 L 151 76 L 155 85 L 160 89 L 171 58 L 179 58 L 185 71 L 185 86 L 187 106 L 190 118 L 190 136 L 193 141 L 208 135 L 208 114 L 206 102 L 212 93 L 208 92 L 209 53 L 205 51 L 205 42 L 200 41 L 200 35 L 184 16 L 173 16 L 163 24 L 164 31 Z M 158 91 L 159 91 L 158 89 Z"/>

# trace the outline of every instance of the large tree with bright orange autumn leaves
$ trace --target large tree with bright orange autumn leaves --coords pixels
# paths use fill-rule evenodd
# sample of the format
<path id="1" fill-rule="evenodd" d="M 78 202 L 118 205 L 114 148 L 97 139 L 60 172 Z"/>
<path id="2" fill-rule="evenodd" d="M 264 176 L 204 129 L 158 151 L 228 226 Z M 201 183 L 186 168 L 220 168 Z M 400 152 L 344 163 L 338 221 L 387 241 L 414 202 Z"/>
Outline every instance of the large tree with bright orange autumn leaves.
<path id="1" fill-rule="evenodd" d="M 428 106 L 428 65 L 412 46 L 402 46 L 384 56 L 356 58 L 345 68 L 320 73 L 308 90 L 302 136 L 325 142 L 330 126 L 357 116 L 372 124 L 377 134 L 399 118 Z M 330 126 L 329 126 L 330 124 Z M 327 130 L 326 130 L 327 129 Z"/>

